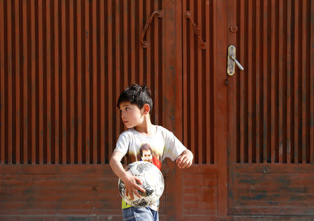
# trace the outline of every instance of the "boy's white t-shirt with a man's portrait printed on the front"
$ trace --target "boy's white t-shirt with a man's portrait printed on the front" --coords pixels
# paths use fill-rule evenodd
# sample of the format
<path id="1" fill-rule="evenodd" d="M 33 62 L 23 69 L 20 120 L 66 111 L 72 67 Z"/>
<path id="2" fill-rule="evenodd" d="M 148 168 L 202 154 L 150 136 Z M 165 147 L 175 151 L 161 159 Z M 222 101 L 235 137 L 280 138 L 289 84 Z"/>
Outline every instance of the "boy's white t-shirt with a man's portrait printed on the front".
<path id="1" fill-rule="evenodd" d="M 169 157 L 172 161 L 177 159 L 181 155 L 186 147 L 179 141 L 174 134 L 164 127 L 156 126 L 156 134 L 147 136 L 140 134 L 135 129 L 131 128 L 120 134 L 116 148 L 114 151 L 119 151 L 126 157 L 127 164 L 140 161 L 149 160 L 152 164 L 160 169 L 161 162 L 166 157 Z M 142 149 L 142 151 L 140 151 Z M 149 151 L 150 158 L 144 158 L 144 154 L 140 152 Z M 128 208 L 124 200 L 122 200 L 122 208 Z M 152 209 L 158 210 L 158 204 L 152 205 Z"/>

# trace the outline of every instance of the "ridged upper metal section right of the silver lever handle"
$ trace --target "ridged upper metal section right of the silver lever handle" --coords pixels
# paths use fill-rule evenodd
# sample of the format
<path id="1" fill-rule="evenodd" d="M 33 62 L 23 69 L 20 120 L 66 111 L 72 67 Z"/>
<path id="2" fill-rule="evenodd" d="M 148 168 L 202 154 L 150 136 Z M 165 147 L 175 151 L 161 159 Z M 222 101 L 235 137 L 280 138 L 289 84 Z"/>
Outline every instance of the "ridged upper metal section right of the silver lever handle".
<path id="1" fill-rule="evenodd" d="M 237 16 L 237 162 L 313 163 L 311 1 L 239 0 Z"/>

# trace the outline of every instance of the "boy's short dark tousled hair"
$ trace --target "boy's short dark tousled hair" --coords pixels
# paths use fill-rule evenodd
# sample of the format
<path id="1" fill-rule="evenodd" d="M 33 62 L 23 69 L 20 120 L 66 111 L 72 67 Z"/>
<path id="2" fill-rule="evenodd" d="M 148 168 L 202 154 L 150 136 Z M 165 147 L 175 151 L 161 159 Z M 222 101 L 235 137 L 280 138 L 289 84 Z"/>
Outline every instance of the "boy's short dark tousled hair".
<path id="1" fill-rule="evenodd" d="M 135 104 L 138 108 L 142 108 L 144 104 L 148 104 L 150 107 L 149 112 L 153 108 L 153 101 L 151 100 L 151 90 L 146 85 L 130 85 L 124 90 L 117 101 L 117 107 L 120 108 L 122 102 L 130 102 Z"/>

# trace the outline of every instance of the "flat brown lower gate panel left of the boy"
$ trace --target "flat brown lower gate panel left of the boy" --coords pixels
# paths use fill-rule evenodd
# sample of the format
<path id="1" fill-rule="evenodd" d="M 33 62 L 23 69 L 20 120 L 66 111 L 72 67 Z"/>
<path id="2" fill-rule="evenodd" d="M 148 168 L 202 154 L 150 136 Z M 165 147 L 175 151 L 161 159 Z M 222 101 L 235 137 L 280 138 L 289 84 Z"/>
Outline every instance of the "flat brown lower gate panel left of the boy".
<path id="1" fill-rule="evenodd" d="M 3 165 L 0 170 L 3 220 L 64 214 L 121 220 L 117 178 L 109 165 Z"/>

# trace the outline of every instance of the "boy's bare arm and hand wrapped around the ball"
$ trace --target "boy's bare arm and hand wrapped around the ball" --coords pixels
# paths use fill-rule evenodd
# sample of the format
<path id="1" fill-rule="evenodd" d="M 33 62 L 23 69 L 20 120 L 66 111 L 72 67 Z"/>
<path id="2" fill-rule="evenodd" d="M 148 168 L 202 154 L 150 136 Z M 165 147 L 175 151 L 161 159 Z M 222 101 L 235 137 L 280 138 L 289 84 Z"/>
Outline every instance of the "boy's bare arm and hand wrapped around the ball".
<path id="1" fill-rule="evenodd" d="M 114 173 L 124 182 L 124 185 L 126 186 L 126 197 L 134 199 L 133 194 L 137 195 L 137 197 L 141 197 L 137 190 L 145 192 L 145 190 L 140 187 L 140 185 L 142 185 L 142 181 L 136 176 L 131 176 L 130 174 L 126 173 L 124 167 L 121 164 L 122 157 L 124 157 L 124 154 L 122 152 L 113 152 L 110 159 L 110 166 L 112 168 L 112 171 L 114 171 Z M 137 183 L 139 183 L 140 185 L 138 185 Z"/>

